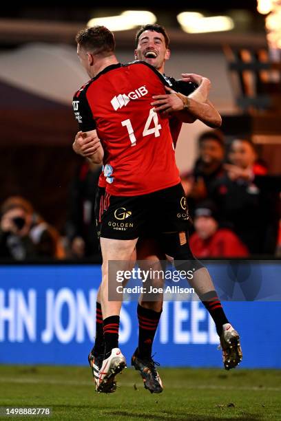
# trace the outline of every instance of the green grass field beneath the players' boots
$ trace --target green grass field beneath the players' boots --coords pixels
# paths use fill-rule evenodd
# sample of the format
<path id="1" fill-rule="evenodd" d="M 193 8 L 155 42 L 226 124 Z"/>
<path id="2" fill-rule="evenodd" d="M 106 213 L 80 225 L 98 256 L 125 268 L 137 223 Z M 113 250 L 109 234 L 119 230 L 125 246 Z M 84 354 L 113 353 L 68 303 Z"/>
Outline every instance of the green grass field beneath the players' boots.
<path id="1" fill-rule="evenodd" d="M 52 407 L 46 420 L 281 420 L 280 371 L 159 372 L 165 386 L 159 395 L 145 390 L 131 368 L 118 376 L 116 393 L 105 395 L 94 391 L 88 367 L 0 366 L 0 405 Z"/>

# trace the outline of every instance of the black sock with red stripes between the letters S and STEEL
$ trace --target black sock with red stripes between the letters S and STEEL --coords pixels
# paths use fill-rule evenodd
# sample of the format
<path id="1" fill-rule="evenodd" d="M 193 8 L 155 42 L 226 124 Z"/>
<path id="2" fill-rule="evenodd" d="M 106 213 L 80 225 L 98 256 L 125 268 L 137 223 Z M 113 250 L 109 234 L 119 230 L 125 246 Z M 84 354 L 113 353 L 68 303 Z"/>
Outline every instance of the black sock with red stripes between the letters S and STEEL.
<path id="1" fill-rule="evenodd" d="M 155 312 L 138 304 L 138 356 L 151 358 L 152 344 L 162 311 Z"/>

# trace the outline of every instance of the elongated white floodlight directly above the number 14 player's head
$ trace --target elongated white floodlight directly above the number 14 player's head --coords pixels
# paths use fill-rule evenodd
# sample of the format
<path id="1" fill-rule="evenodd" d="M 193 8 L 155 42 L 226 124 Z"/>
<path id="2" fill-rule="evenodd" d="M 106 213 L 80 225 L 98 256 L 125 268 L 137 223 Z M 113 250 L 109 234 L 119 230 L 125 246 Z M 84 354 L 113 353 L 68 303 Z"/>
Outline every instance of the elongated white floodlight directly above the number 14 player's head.
<path id="1" fill-rule="evenodd" d="M 88 27 L 104 25 L 111 31 L 126 31 L 136 28 L 139 25 L 155 23 L 156 16 L 147 10 L 125 10 L 118 16 L 107 16 L 90 19 Z"/>

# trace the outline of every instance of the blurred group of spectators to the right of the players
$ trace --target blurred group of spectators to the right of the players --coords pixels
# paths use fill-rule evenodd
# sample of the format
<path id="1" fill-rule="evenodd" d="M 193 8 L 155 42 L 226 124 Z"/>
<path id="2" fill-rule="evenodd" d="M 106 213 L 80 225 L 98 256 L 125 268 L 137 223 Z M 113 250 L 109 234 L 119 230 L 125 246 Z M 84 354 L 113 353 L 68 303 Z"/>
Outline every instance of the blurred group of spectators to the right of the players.
<path id="1" fill-rule="evenodd" d="M 251 140 L 235 139 L 226 149 L 222 133 L 202 133 L 194 169 L 182 179 L 197 257 L 275 255 L 281 177 L 268 175 Z"/>

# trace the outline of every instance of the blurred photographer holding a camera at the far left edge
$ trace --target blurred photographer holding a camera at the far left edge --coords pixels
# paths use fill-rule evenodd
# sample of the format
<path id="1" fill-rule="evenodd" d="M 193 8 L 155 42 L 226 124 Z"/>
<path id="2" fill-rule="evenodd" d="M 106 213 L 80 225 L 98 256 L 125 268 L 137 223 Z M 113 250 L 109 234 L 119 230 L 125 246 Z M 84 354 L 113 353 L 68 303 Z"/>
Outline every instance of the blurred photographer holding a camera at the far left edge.
<path id="1" fill-rule="evenodd" d="M 59 233 L 34 212 L 20 196 L 6 199 L 1 206 L 0 257 L 25 260 L 64 257 Z"/>

